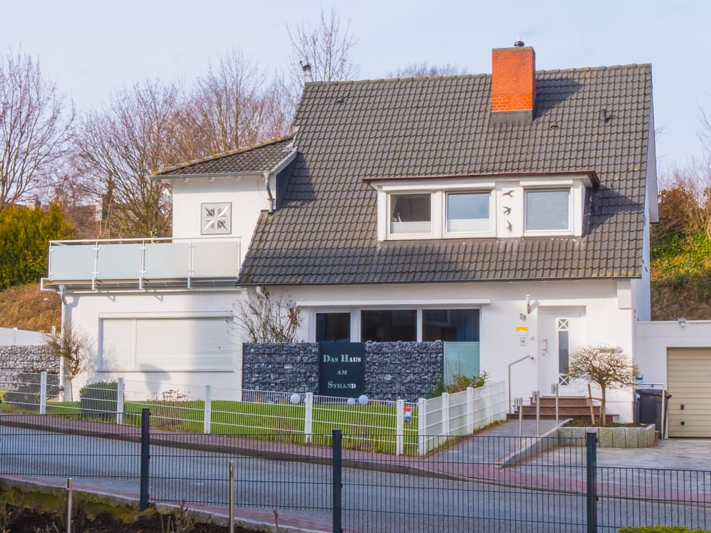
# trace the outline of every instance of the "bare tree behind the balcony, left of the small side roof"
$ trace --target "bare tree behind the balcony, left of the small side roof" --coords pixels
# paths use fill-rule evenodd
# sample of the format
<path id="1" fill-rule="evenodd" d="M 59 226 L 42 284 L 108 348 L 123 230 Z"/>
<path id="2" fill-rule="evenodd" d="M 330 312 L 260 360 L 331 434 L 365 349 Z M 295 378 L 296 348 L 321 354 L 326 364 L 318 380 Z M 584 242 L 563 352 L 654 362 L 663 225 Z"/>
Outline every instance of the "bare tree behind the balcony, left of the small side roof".
<path id="1" fill-rule="evenodd" d="M 176 85 L 144 82 L 117 92 L 102 112 L 80 120 L 75 136 L 77 166 L 102 195 L 125 237 L 169 233 L 171 205 L 155 171 L 195 158 L 181 125 L 186 106 Z"/>

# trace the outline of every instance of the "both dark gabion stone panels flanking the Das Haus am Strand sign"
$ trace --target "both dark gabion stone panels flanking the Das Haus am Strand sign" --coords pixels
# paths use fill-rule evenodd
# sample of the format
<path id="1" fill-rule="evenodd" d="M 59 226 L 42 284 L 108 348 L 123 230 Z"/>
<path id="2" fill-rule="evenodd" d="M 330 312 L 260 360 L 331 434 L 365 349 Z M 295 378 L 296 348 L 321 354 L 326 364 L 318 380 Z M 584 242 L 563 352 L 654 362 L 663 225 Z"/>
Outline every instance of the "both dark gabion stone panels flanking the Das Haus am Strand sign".
<path id="1" fill-rule="evenodd" d="M 444 343 L 365 343 L 365 394 L 414 402 L 444 375 Z M 245 343 L 242 387 L 281 392 L 319 389 L 318 343 Z"/>

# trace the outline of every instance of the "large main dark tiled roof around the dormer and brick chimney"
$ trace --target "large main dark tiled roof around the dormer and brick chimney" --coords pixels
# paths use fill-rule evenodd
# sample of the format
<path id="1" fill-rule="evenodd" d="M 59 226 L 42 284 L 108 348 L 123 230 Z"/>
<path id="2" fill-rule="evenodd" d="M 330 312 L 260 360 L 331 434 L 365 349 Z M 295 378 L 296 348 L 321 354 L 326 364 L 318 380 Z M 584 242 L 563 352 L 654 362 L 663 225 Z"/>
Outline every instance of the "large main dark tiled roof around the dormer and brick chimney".
<path id="1" fill-rule="evenodd" d="M 283 207 L 262 213 L 240 284 L 640 276 L 651 67 L 541 71 L 537 85 L 533 122 L 492 124 L 489 75 L 308 84 Z M 566 171 L 600 179 L 582 237 L 378 242 L 363 182 Z"/>

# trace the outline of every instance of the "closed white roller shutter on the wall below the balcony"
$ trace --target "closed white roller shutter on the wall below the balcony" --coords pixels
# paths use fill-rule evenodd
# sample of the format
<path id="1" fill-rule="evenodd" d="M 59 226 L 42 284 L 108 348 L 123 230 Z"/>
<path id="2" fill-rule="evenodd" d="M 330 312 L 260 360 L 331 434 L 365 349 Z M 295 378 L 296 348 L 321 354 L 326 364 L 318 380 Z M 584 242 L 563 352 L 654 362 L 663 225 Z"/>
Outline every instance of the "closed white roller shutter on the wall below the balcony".
<path id="1" fill-rule="evenodd" d="M 101 318 L 101 370 L 231 370 L 225 316 Z"/>

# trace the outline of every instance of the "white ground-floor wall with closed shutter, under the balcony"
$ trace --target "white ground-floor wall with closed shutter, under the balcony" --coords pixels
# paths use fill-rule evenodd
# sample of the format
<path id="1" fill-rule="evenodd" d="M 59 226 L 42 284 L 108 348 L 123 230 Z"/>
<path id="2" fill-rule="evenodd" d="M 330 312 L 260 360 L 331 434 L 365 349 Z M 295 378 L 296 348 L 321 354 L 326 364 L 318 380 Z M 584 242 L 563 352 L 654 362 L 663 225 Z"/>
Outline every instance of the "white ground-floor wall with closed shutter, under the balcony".
<path id="1" fill-rule="evenodd" d="M 124 377 L 146 394 L 181 385 L 239 389 L 242 343 L 231 321 L 239 289 L 68 293 L 66 318 L 89 343 L 94 362 L 75 379 Z"/>

